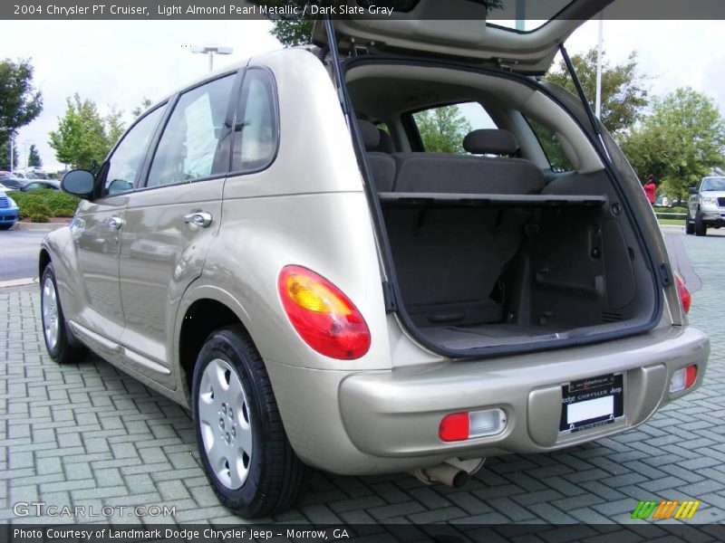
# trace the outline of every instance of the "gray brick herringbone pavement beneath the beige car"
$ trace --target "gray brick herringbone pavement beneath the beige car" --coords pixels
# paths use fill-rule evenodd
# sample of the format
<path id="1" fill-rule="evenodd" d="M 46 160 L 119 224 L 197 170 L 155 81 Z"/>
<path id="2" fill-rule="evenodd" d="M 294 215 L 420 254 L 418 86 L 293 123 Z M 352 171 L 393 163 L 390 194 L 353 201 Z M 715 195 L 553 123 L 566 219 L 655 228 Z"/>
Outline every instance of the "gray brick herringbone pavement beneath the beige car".
<path id="1" fill-rule="evenodd" d="M 677 234 L 674 234 L 677 235 Z M 691 323 L 710 334 L 704 386 L 639 429 L 552 454 L 490 459 L 460 490 L 426 487 L 407 474 L 315 473 L 286 522 L 628 522 L 639 500 L 701 500 L 694 520 L 725 520 L 725 239 L 677 240 L 701 290 Z M 691 272 L 692 273 L 692 272 Z M 0 291 L 0 521 L 14 504 L 62 507 L 167 506 L 124 522 L 237 522 L 199 466 L 189 415 L 96 358 L 58 367 L 44 352 L 34 290 Z M 107 510 L 106 510 L 107 511 Z M 105 521 L 106 517 L 46 522 Z"/>

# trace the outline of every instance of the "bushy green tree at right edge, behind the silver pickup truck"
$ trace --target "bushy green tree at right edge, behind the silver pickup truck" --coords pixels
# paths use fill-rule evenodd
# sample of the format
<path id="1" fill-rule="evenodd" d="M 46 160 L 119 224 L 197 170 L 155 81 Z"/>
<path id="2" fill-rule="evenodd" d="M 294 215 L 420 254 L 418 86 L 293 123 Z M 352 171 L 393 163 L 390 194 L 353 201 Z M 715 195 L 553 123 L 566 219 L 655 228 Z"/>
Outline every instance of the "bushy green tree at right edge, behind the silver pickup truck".
<path id="1" fill-rule="evenodd" d="M 685 199 L 689 186 L 725 167 L 725 119 L 707 95 L 678 89 L 653 100 L 622 149 L 640 177 L 652 174 L 668 195 Z"/>

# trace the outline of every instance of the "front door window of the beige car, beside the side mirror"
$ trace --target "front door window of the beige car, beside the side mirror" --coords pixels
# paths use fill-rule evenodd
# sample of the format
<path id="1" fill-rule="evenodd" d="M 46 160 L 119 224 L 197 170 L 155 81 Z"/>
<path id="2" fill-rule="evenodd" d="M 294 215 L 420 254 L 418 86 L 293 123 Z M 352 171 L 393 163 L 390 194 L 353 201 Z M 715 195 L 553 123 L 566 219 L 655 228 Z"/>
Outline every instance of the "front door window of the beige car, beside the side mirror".
<path id="1" fill-rule="evenodd" d="M 117 195 L 133 189 L 133 182 L 146 157 L 151 136 L 165 110 L 166 106 L 161 106 L 151 111 L 123 136 L 106 163 L 105 194 Z"/>

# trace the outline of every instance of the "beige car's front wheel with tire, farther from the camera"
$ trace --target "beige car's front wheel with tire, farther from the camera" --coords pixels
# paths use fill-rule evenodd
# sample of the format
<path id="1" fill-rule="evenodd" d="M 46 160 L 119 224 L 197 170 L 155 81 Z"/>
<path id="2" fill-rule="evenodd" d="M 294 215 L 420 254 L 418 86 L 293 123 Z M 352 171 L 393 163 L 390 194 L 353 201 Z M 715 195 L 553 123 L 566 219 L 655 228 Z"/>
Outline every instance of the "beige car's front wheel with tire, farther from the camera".
<path id="1" fill-rule="evenodd" d="M 73 364 L 82 360 L 88 351 L 71 341 L 61 300 L 58 297 L 58 283 L 55 280 L 53 263 L 49 263 L 43 270 L 40 281 L 40 305 L 43 339 L 50 357 L 58 364 Z"/>

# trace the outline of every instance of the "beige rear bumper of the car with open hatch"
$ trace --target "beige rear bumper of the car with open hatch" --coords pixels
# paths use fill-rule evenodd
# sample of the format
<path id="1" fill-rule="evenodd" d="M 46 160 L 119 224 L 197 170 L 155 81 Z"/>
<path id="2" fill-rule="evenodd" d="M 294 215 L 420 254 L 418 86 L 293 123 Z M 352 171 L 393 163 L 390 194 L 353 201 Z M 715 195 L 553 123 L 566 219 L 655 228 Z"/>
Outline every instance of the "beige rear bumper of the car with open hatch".
<path id="1" fill-rule="evenodd" d="M 285 398 L 280 408 L 295 451 L 324 470 L 353 474 L 427 467 L 452 456 L 546 452 L 623 432 L 642 424 L 663 402 L 699 386 L 709 352 L 709 340 L 699 330 L 672 327 L 520 357 L 334 376 L 345 372 L 280 369 L 282 365 L 272 363 L 270 373 L 278 401 Z M 698 365 L 695 385 L 670 395 L 672 372 L 691 364 Z M 274 375 L 280 372 L 289 375 Z M 561 386 L 612 373 L 624 376 L 623 418 L 577 433 L 559 433 Z M 304 394 L 291 397 L 285 390 L 281 396 L 276 384 L 280 377 L 295 378 L 295 388 Z M 440 441 L 443 416 L 488 408 L 506 412 L 502 433 L 465 442 Z"/>

